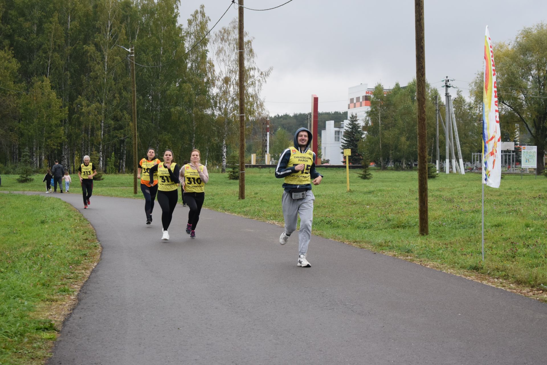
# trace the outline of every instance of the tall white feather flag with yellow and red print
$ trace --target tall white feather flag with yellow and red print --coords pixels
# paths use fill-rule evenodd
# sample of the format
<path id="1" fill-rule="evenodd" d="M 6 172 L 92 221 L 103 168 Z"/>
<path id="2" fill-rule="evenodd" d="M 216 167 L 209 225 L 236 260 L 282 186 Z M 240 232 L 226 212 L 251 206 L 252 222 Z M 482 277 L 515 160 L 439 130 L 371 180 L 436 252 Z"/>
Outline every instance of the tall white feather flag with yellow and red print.
<path id="1" fill-rule="evenodd" d="M 498 89 L 492 40 L 486 26 L 484 37 L 484 88 L 482 89 L 482 183 L 499 188 L 502 179 L 501 132 Z"/>

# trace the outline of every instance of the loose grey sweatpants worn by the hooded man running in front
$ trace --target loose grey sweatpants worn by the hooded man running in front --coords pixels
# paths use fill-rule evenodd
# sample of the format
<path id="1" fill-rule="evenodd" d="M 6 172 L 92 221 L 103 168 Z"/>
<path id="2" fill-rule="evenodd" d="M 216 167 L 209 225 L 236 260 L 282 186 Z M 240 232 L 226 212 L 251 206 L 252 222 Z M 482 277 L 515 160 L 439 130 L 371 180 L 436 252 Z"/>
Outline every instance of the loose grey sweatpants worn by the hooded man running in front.
<path id="1" fill-rule="evenodd" d="M 313 201 L 315 196 L 311 190 L 306 192 L 306 198 L 293 199 L 290 193 L 283 190 L 281 203 L 283 205 L 283 218 L 285 218 L 285 233 L 290 235 L 296 230 L 296 222 L 300 215 L 300 233 L 298 235 L 299 254 L 306 254 L 307 246 L 311 239 L 311 224 L 313 222 Z"/>

